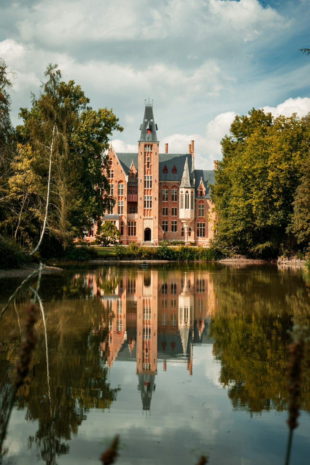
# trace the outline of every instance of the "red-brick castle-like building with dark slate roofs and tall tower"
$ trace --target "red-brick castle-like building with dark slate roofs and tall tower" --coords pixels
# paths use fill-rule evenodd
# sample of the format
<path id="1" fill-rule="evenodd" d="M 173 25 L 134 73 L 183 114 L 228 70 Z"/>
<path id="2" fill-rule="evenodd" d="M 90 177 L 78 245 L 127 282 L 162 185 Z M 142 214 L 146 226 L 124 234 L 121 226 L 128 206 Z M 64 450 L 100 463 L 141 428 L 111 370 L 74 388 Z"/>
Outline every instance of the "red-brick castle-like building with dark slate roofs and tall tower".
<path id="1" fill-rule="evenodd" d="M 111 146 L 106 176 L 116 203 L 103 220 L 118 227 L 124 245 L 184 240 L 208 246 L 213 237 L 209 183 L 214 172 L 194 169 L 193 140 L 188 153 L 168 153 L 168 144 L 165 153 L 159 153 L 157 130 L 152 104 L 146 104 L 138 153 L 116 153 Z"/>

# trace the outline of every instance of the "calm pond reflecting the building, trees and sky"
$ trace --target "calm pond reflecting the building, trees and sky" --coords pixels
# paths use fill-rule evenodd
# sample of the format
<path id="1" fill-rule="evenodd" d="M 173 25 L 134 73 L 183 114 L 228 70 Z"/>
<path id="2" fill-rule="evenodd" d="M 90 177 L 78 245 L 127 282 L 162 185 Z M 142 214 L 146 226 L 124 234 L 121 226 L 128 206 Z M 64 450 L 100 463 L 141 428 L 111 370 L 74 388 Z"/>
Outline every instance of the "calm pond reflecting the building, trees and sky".
<path id="1" fill-rule="evenodd" d="M 20 281 L 0 281 L 1 308 Z M 33 369 L 0 463 L 99 465 L 116 434 L 117 464 L 284 463 L 288 330 L 310 318 L 301 271 L 88 266 L 42 276 L 39 293 Z M 30 297 L 0 320 L 2 420 Z M 309 464 L 309 374 L 308 343 L 292 464 Z"/>

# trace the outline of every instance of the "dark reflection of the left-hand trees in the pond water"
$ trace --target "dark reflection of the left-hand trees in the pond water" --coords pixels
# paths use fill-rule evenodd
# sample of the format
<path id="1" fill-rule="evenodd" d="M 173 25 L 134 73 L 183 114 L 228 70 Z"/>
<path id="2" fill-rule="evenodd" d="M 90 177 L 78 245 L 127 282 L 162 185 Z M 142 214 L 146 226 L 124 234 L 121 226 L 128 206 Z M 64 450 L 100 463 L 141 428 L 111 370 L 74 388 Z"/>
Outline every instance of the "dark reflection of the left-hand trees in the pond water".
<path id="1" fill-rule="evenodd" d="M 49 382 L 46 374 L 46 347 L 42 321 L 33 364 L 35 376 L 19 391 L 17 404 L 26 408 L 26 420 L 38 420 L 38 431 L 29 438 L 36 444 L 38 457 L 55 464 L 69 451 L 68 441 L 78 432 L 91 408 L 109 408 L 119 388 L 111 388 L 102 321 L 105 311 L 96 300 L 67 300 L 46 304 Z M 14 332 L 16 317 L 8 314 L 7 334 Z M 12 342 L 7 340 L 8 345 Z M 107 346 L 107 345 L 106 345 Z M 9 352 L 9 351 L 8 351 Z M 11 370 L 12 372 L 12 370 Z M 13 382 L 13 373 L 11 373 Z"/>

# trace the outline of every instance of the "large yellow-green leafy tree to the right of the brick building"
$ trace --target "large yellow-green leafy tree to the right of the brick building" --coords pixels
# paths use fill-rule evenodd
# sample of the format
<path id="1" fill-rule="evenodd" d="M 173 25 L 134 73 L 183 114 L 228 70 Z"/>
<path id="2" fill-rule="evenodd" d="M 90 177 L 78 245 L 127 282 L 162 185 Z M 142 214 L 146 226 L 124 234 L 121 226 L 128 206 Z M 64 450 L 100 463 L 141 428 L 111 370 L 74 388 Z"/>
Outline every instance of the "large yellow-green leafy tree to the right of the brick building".
<path id="1" fill-rule="evenodd" d="M 211 189 L 222 248 L 264 257 L 292 247 L 288 226 L 308 127 L 296 114 L 273 118 L 252 109 L 249 116 L 236 117 L 222 140 L 223 160 Z"/>

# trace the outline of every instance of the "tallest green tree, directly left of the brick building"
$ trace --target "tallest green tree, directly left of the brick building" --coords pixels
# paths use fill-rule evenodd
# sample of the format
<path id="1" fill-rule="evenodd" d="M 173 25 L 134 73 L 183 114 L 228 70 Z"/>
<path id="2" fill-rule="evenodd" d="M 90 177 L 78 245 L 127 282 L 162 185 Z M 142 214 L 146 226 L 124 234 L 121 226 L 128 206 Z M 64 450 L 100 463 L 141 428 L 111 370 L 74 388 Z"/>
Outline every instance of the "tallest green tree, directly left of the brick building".
<path id="1" fill-rule="evenodd" d="M 24 124 L 17 128 L 20 143 L 40 154 L 45 179 L 45 202 L 38 206 L 43 221 L 31 253 L 46 231 L 66 247 L 82 236 L 90 219 L 100 222 L 110 203 L 104 153 L 112 132 L 123 130 L 112 109 L 93 110 L 80 86 L 61 81 L 57 65 L 50 64 L 45 76 L 32 108 L 21 108 Z"/>

